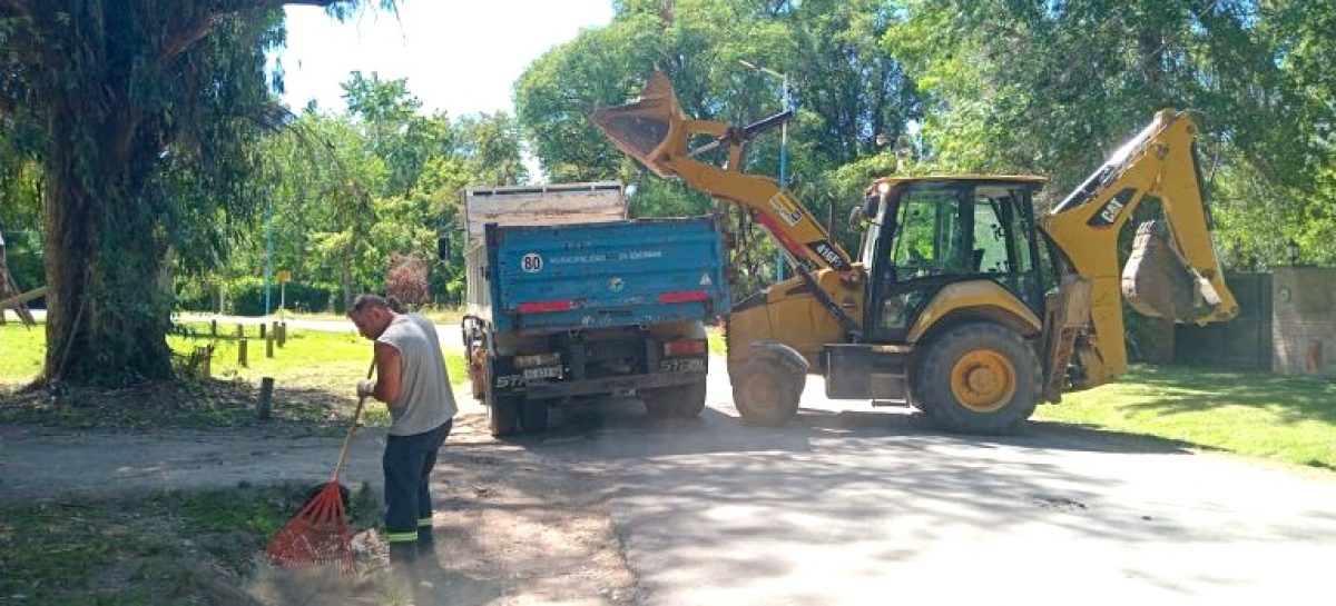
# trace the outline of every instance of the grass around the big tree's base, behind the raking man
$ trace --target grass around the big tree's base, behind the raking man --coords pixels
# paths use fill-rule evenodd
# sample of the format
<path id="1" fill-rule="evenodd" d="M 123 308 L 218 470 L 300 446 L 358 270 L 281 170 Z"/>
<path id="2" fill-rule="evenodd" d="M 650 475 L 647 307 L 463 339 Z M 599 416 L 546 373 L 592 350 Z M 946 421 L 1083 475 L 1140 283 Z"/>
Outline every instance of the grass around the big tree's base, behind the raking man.
<path id="1" fill-rule="evenodd" d="M 257 423 L 259 383 L 274 378 L 274 418 L 342 431 L 354 403 L 353 386 L 366 376 L 371 346 L 353 332 L 321 332 L 290 328 L 285 347 L 266 358 L 258 326 L 246 327 L 247 364 L 238 362 L 235 327 L 219 326 L 219 338 L 208 324 L 178 324 L 167 343 L 186 355 L 214 346 L 210 380 L 174 380 L 127 390 L 45 391 L 0 398 L 0 422 L 28 422 L 65 427 L 219 427 Z M 44 331 L 16 323 L 0 327 L 0 384 L 29 382 L 41 368 Z M 453 383 L 468 380 L 464 358 L 446 354 Z M 55 396 L 53 396 L 55 395 Z M 389 423 L 383 406 L 363 412 L 365 424 Z"/>

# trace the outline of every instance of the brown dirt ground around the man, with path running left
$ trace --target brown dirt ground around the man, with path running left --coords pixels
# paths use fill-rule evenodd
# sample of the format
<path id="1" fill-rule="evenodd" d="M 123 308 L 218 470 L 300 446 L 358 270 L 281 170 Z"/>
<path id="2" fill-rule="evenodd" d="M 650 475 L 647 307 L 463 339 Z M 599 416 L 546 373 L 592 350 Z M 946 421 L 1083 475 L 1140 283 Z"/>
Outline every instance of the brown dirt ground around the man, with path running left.
<path id="1" fill-rule="evenodd" d="M 596 477 L 493 440 L 481 407 L 472 399 L 461 404 L 433 474 L 440 567 L 425 573 L 411 598 L 386 595 L 386 573 L 373 561 L 361 585 L 262 567 L 239 587 L 248 595 L 238 595 L 239 603 L 636 603 Z M 323 481 L 339 443 L 257 428 L 143 434 L 4 426 L 0 501 Z M 378 490 L 382 447 L 383 432 L 361 432 L 346 482 Z M 52 461 L 63 462 L 59 474 L 49 473 Z"/>

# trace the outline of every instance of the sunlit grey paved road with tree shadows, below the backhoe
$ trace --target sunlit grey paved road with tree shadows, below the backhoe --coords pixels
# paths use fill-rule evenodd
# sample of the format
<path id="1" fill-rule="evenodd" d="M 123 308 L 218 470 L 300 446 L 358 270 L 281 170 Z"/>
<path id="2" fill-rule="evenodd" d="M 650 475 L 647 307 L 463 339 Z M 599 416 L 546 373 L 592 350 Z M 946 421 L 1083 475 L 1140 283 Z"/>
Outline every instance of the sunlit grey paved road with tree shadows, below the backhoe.
<path id="1" fill-rule="evenodd" d="M 1331 595 L 1332 477 L 1061 426 L 951 436 L 820 394 L 752 428 L 719 372 L 700 420 L 604 404 L 525 447 L 609 482 L 647 606 Z"/>

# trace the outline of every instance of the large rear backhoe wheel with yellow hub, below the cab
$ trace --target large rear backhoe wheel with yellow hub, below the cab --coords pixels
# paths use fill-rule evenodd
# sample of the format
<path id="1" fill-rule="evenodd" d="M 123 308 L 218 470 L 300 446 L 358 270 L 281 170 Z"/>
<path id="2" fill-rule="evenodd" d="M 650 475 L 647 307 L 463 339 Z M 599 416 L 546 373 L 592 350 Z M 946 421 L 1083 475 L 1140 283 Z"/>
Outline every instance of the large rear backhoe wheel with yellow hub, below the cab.
<path id="1" fill-rule="evenodd" d="M 914 392 L 942 428 L 1003 434 L 1034 414 L 1039 383 L 1034 348 L 1011 330 L 981 322 L 929 343 Z"/>

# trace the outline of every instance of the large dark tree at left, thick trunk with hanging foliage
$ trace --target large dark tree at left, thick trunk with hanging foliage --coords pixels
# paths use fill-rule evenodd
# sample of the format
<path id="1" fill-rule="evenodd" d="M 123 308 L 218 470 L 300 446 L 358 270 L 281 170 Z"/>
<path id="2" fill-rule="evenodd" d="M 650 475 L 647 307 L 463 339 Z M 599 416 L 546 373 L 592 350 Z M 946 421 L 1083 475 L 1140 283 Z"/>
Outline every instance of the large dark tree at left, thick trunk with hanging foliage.
<path id="1" fill-rule="evenodd" d="M 235 178 L 281 123 L 263 51 L 283 4 L 363 3 L 0 0 L 0 113 L 32 112 L 44 141 L 47 380 L 168 376 L 170 296 L 148 286 L 184 220 L 171 194 L 206 192 L 195 215 L 253 210 Z"/>

